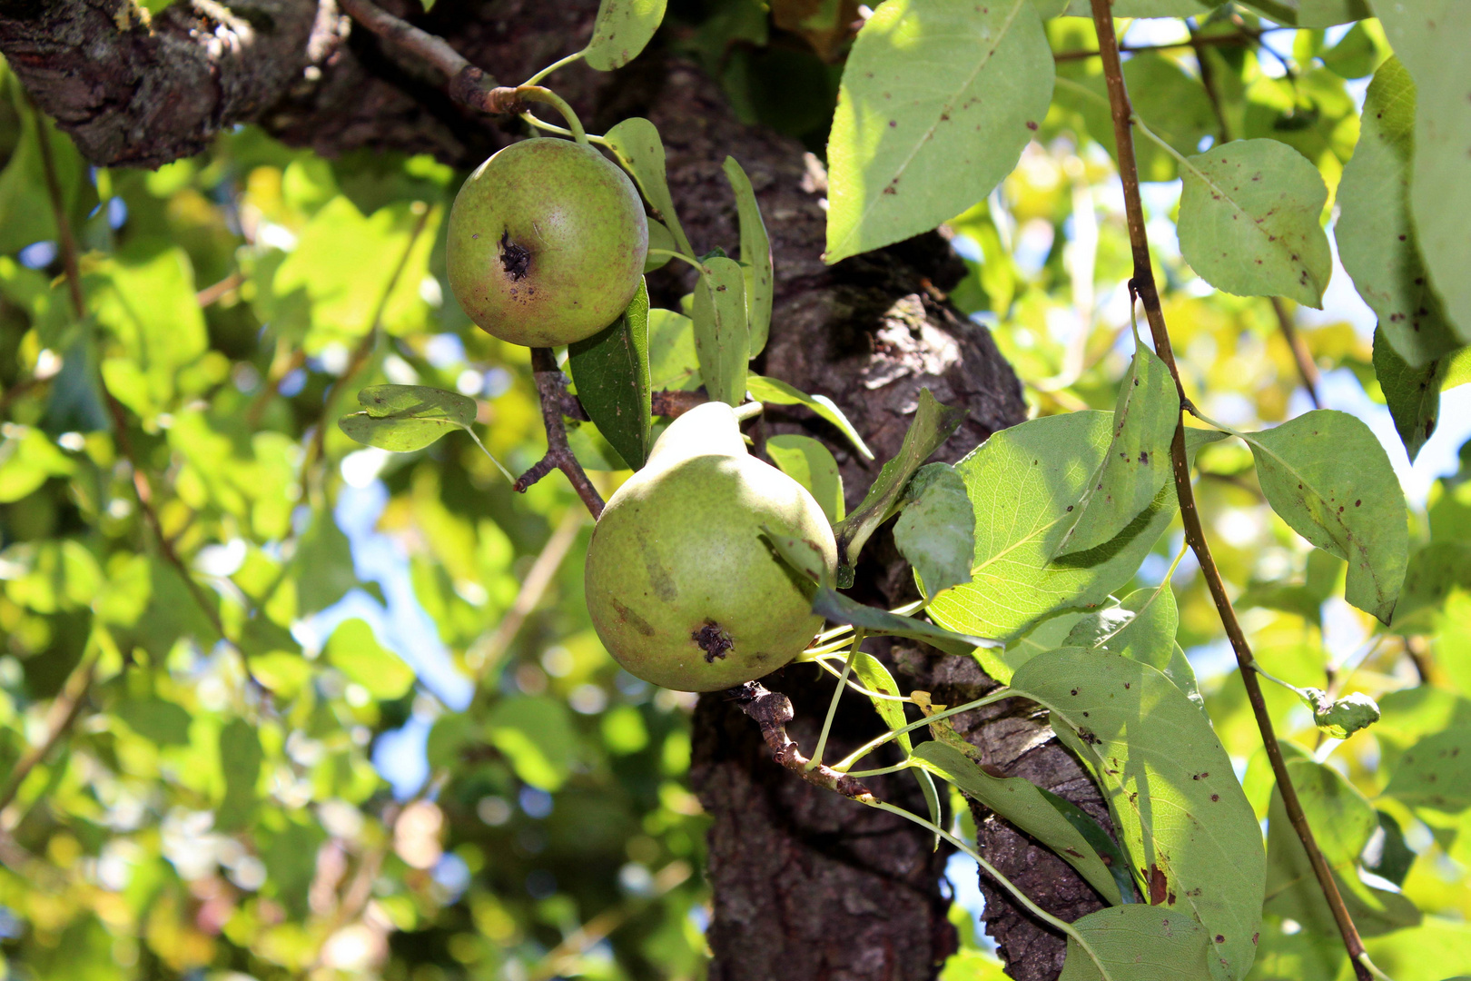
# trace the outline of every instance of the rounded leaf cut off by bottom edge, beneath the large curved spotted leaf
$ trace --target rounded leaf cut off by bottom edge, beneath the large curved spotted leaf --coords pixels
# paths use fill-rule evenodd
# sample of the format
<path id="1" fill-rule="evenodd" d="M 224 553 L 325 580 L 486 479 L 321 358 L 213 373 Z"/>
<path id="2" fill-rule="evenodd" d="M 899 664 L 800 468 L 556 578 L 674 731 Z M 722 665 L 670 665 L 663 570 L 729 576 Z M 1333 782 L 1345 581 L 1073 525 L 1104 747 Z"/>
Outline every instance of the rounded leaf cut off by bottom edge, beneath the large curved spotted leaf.
<path id="1" fill-rule="evenodd" d="M 1211 938 L 1192 916 L 1169 906 L 1111 906 L 1074 921 L 1114 981 L 1183 981 L 1225 977 L 1211 956 Z M 1077 940 L 1068 938 L 1058 981 L 1102 981 L 1103 974 Z"/>

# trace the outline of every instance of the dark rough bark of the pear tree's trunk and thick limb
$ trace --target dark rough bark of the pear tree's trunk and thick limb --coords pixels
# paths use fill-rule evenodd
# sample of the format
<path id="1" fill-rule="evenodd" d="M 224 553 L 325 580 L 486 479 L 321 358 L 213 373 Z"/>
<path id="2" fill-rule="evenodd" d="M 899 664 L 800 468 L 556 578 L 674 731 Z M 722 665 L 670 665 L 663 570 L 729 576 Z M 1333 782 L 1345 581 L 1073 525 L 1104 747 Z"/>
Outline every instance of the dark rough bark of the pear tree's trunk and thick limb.
<path id="1" fill-rule="evenodd" d="M 384 3 L 399 15 L 418 4 Z M 513 84 L 588 37 L 596 0 L 438 3 L 416 24 L 440 34 L 499 81 Z M 468 166 L 521 134 L 515 121 L 471 116 L 443 79 L 412 57 L 350 31 L 334 0 L 178 0 L 147 25 L 129 0 L 0 0 L 0 51 L 37 103 L 99 165 L 156 166 L 207 146 L 222 126 L 257 122 L 325 156 L 396 149 Z M 944 300 L 962 268 L 938 235 L 825 266 L 821 165 L 791 140 L 741 125 L 696 66 L 652 50 L 615 76 L 584 66 L 553 79 L 584 121 L 602 129 L 628 115 L 659 126 L 669 184 L 696 249 L 737 241 L 736 209 L 721 174 L 727 153 L 746 168 L 772 234 L 777 303 L 771 344 L 758 365 L 833 397 L 878 456 L 865 462 L 802 412 L 772 412 L 769 431 L 825 438 L 850 504 L 897 450 L 921 387 L 969 409 L 936 454 L 956 460 L 990 432 L 1024 418 L 1019 384 L 987 331 Z M 678 265 L 678 263 L 675 263 Z M 650 278 L 672 304 L 688 274 Z M 913 582 L 887 537 L 859 566 L 855 596 L 896 604 Z M 871 643 L 908 687 L 955 703 L 993 687 L 974 663 L 930 649 Z M 830 679 L 815 668 L 778 672 L 791 696 L 791 735 L 811 749 Z M 1089 809 L 1106 809 L 1078 763 L 1049 740 L 1046 722 L 1002 703 L 956 728 L 1006 774 L 1025 775 Z M 849 699 L 830 752 L 877 731 L 872 710 Z M 922 980 L 953 950 L 940 874 L 944 853 L 913 825 L 821 791 L 775 766 L 756 727 L 719 697 L 700 700 L 691 780 L 713 818 L 708 875 L 715 893 L 710 977 L 721 981 Z M 836 759 L 836 756 L 833 756 Z M 924 805 L 912 780 L 877 778 L 875 793 Z M 1100 902 L 1064 862 L 994 818 L 977 815 L 981 846 L 1046 909 L 1074 919 Z M 983 881 L 989 930 L 1014 977 L 1055 978 L 1061 938 Z"/>

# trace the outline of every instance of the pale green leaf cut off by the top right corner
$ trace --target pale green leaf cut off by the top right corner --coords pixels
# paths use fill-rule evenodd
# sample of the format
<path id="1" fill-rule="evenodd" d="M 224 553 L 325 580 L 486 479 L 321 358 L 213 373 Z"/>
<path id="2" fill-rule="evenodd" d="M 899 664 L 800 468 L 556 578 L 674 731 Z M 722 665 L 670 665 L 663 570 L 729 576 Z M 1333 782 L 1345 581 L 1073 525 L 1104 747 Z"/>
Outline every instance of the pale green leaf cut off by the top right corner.
<path id="1" fill-rule="evenodd" d="M 1459 0 L 1375 6 L 1395 54 L 1415 82 L 1415 163 L 1409 203 L 1420 254 L 1462 341 L 1471 343 L 1471 7 Z"/>

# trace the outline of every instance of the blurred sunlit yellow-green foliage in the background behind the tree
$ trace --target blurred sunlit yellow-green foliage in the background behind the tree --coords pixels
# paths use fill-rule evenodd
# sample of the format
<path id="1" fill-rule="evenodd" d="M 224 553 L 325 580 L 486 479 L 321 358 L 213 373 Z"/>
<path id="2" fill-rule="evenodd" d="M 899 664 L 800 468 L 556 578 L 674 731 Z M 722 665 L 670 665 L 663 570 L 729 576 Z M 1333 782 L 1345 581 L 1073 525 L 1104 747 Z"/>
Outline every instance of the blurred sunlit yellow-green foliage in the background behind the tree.
<path id="1" fill-rule="evenodd" d="M 746 119 L 821 153 L 856 16 L 846 1 L 675 1 L 668 35 Z M 1094 46 L 1087 21 L 1049 29 L 1059 51 Z M 1274 31 L 1271 46 L 1208 50 L 1228 129 L 1286 140 L 1331 191 L 1383 32 Z M 1093 85 L 1096 71 L 1062 74 Z M 1153 87 L 1141 112 L 1202 107 L 1187 46 L 1133 71 Z M 616 671 L 597 643 L 577 497 L 556 477 L 515 496 L 463 435 L 388 454 L 332 425 L 362 387 L 435 385 L 477 399 L 480 435 L 512 471 L 538 459 L 527 352 L 474 329 L 447 288 L 462 175 L 427 157 L 325 160 L 253 128 L 154 172 L 99 171 L 9 74 L 0 88 L 0 769 L 90 682 L 0 810 L 0 977 L 702 977 L 693 699 Z M 1133 350 L 1106 121 L 1061 93 L 1015 172 L 943 229 L 969 268 L 952 300 L 991 328 L 1043 415 L 1112 407 Z M 1215 138 L 1218 122 L 1194 112 L 1180 138 Z M 1174 176 L 1168 157 L 1144 166 Z M 1178 184 L 1146 200 L 1187 385 L 1236 427 L 1299 413 L 1271 304 L 1212 291 L 1181 262 Z M 1299 327 L 1337 385 L 1383 404 L 1362 328 Z M 1340 744 L 1294 694 L 1267 691 L 1280 734 L 1377 809 L 1344 875 L 1420 910 L 1375 931 L 1371 953 L 1399 981 L 1471 969 L 1471 812 L 1383 796 L 1422 737 L 1471 727 L 1471 581 L 1383 628 L 1337 599 L 1343 563 L 1272 515 L 1243 447 L 1199 463 L 1264 666 L 1383 709 Z M 593 477 L 605 493 L 621 478 Z M 503 637 L 560 528 L 571 557 Z M 1177 525 L 1136 585 L 1158 584 L 1180 547 Z M 1412 515 L 1412 569 L 1468 553 L 1462 447 Z M 1172 582 L 1180 644 L 1265 818 L 1271 778 L 1192 559 Z M 1253 978 L 1347 977 L 1331 931 L 1274 909 Z M 946 981 L 999 978 L 969 913 L 953 919 L 964 947 Z"/>

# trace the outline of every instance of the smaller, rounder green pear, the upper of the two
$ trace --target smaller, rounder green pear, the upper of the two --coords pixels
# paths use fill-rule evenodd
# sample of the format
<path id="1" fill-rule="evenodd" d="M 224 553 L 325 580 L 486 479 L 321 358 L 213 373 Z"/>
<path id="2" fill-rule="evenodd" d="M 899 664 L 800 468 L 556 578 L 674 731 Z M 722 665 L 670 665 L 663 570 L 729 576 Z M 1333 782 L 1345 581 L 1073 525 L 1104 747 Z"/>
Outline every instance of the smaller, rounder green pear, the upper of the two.
<path id="1" fill-rule="evenodd" d="M 647 253 L 649 221 L 633 181 L 571 140 L 500 150 L 450 210 L 455 299 L 512 344 L 571 344 L 612 324 L 634 299 Z"/>

